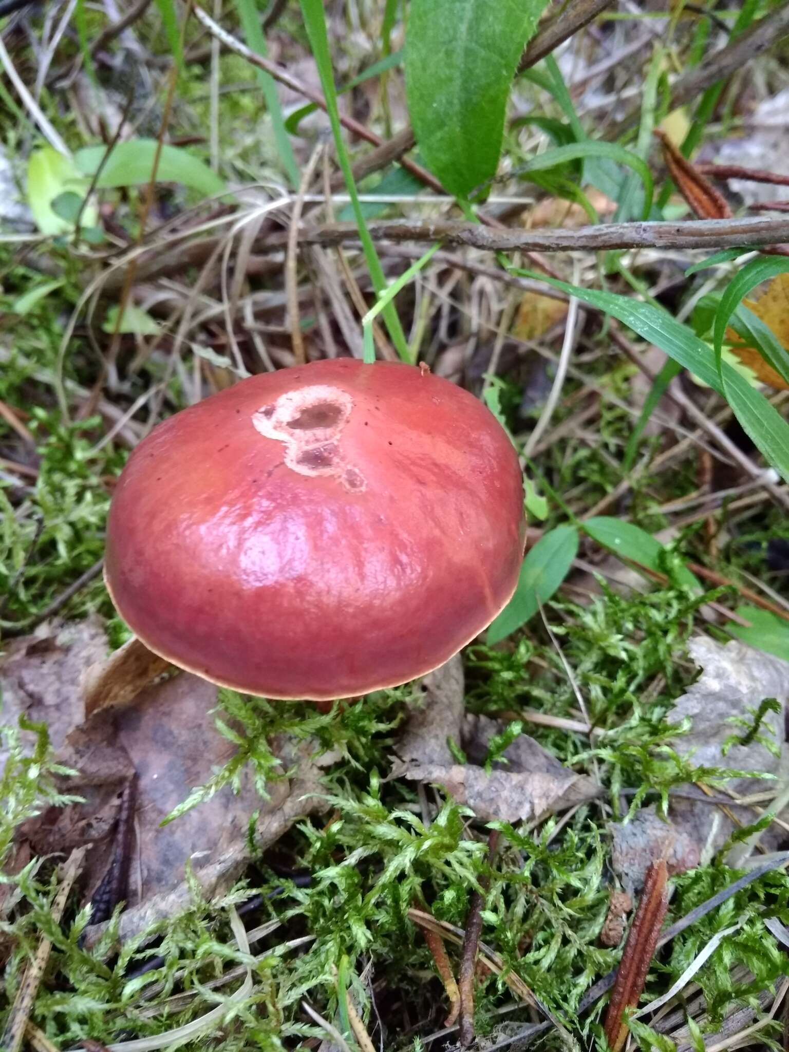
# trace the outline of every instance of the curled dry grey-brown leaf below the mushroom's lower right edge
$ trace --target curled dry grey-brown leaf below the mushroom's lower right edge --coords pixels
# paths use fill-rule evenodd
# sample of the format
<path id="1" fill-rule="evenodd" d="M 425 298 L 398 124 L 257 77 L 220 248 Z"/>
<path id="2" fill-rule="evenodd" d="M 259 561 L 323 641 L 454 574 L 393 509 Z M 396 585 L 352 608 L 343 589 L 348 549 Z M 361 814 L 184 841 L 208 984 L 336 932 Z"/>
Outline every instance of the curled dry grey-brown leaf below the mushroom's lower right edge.
<path id="1" fill-rule="evenodd" d="M 507 748 L 507 764 L 499 763 L 486 773 L 478 763 L 484 761 L 490 740 L 504 724 L 471 715 L 460 724 L 464 699 L 460 658 L 437 669 L 428 681 L 425 706 L 411 714 L 397 749 L 403 758 L 392 765 L 389 777 L 440 785 L 486 822 L 530 821 L 600 795 L 602 790 L 592 778 L 563 767 L 526 734 Z M 460 737 L 471 763 L 453 763 L 447 736 Z"/>

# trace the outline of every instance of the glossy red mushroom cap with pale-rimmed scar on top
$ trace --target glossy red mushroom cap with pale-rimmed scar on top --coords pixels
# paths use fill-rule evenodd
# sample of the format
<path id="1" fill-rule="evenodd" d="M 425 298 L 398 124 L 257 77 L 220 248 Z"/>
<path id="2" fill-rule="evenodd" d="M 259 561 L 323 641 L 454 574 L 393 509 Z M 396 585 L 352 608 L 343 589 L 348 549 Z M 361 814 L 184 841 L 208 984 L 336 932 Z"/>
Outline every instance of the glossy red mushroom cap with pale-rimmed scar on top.
<path id="1" fill-rule="evenodd" d="M 156 653 L 268 697 L 391 687 L 511 596 L 515 451 L 409 365 L 333 359 L 244 380 L 160 424 L 109 512 L 105 578 Z"/>

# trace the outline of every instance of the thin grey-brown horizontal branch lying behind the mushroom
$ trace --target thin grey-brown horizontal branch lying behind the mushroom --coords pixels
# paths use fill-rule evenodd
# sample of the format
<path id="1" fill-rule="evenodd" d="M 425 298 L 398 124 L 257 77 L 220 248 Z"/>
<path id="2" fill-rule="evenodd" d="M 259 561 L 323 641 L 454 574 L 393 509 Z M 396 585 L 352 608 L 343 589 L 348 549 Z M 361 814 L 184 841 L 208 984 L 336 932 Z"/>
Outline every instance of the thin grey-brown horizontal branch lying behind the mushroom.
<path id="1" fill-rule="evenodd" d="M 368 224 L 375 241 L 442 241 L 445 245 L 466 245 L 490 252 L 576 250 L 605 251 L 609 248 L 706 248 L 775 245 L 789 241 L 789 219 L 704 219 L 680 223 L 600 223 L 576 230 L 491 229 L 477 223 L 453 220 L 383 220 Z M 355 223 L 327 223 L 300 234 L 313 245 L 345 245 L 359 241 Z M 268 239 L 261 251 L 279 251 L 282 239 Z"/>

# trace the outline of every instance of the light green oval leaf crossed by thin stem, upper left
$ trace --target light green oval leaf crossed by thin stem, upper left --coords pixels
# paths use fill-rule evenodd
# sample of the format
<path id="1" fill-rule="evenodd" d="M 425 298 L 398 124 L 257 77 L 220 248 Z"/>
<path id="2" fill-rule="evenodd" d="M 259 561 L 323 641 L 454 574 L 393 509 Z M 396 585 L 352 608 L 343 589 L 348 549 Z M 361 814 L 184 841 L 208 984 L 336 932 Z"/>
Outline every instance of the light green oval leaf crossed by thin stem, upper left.
<path id="1" fill-rule="evenodd" d="M 150 182 L 158 143 L 156 139 L 119 142 L 110 153 L 96 182 L 98 187 L 144 186 Z M 83 176 L 93 178 L 106 155 L 106 146 L 85 146 L 74 160 Z M 159 183 L 181 183 L 204 197 L 226 190 L 224 180 L 183 147 L 162 145 L 156 173 Z M 87 224 L 93 225 L 93 224 Z"/>

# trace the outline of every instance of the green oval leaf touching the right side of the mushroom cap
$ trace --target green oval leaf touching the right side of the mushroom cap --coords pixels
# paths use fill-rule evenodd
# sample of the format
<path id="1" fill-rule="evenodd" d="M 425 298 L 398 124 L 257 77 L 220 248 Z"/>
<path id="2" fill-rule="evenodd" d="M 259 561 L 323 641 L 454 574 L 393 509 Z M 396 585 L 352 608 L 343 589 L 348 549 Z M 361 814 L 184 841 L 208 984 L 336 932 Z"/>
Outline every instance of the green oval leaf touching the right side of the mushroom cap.
<path id="1" fill-rule="evenodd" d="M 578 554 L 574 526 L 557 526 L 544 533 L 523 561 L 515 593 L 487 632 L 489 644 L 499 643 L 525 624 L 547 603 L 567 576 Z"/>

